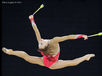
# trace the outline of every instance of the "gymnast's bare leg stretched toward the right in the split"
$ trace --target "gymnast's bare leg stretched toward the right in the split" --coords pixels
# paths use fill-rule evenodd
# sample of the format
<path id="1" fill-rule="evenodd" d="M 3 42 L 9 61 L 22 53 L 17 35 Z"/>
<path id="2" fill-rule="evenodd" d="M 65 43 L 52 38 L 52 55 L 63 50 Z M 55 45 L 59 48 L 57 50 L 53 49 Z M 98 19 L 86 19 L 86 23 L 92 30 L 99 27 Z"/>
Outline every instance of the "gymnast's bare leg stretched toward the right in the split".
<path id="1" fill-rule="evenodd" d="M 87 54 L 83 57 L 76 58 L 74 60 L 58 60 L 56 63 L 54 63 L 50 69 L 61 69 L 69 66 L 76 66 L 80 64 L 83 61 L 89 61 L 91 57 L 94 57 L 94 54 Z"/>

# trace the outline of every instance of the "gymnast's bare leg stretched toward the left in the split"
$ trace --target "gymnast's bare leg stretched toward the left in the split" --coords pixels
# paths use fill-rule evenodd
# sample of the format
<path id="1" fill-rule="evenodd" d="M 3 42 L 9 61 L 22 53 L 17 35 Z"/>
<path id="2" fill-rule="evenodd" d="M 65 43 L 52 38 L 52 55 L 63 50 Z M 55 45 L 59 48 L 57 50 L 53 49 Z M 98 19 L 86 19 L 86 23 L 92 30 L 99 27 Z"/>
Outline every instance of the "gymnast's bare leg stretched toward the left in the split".
<path id="1" fill-rule="evenodd" d="M 44 66 L 43 60 L 41 57 L 30 56 L 24 51 L 13 51 L 12 49 L 6 49 L 6 48 L 2 48 L 2 51 L 6 54 L 15 55 L 15 56 L 18 56 L 20 58 L 23 58 L 24 60 L 28 61 L 29 63 Z"/>

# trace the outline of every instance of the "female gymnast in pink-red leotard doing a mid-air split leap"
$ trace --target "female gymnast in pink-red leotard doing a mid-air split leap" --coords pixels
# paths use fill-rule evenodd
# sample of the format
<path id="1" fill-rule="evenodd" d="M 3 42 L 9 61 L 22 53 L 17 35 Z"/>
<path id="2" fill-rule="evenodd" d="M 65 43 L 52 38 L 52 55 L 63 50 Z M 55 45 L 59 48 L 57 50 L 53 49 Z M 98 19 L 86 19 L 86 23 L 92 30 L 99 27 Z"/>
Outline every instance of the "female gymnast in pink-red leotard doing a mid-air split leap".
<path id="1" fill-rule="evenodd" d="M 43 57 L 30 56 L 24 51 L 17 51 L 12 49 L 7 49 L 5 47 L 2 48 L 2 51 L 8 55 L 15 55 L 29 63 L 38 64 L 40 66 L 48 67 L 49 69 L 62 69 L 69 66 L 76 66 L 83 61 L 89 61 L 90 58 L 94 57 L 95 54 L 87 54 L 80 58 L 76 58 L 73 60 L 59 60 L 60 54 L 60 46 L 59 43 L 65 40 L 71 39 L 79 39 L 84 38 L 84 40 L 88 39 L 87 35 L 77 34 L 77 35 L 67 35 L 62 37 L 54 37 L 52 39 L 43 39 L 41 38 L 40 32 L 36 26 L 33 15 L 29 16 L 32 27 L 35 31 L 36 38 L 38 41 L 39 52 L 43 55 Z"/>

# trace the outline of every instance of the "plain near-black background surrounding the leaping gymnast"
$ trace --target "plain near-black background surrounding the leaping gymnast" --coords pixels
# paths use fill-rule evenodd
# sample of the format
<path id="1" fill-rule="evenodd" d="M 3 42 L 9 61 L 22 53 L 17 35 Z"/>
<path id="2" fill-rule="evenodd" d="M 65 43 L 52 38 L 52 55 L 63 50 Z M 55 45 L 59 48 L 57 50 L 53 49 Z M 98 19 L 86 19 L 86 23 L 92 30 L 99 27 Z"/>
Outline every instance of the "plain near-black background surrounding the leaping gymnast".
<path id="1" fill-rule="evenodd" d="M 5 0 L 10 2 L 11 0 Z M 17 0 L 16 0 L 17 1 Z M 20 4 L 2 3 L 2 47 L 24 50 L 29 55 L 40 56 L 38 43 L 28 19 L 35 14 L 36 24 L 43 38 L 69 34 L 95 34 L 102 31 L 100 0 L 28 0 Z M 60 59 L 71 60 L 88 53 L 96 54 L 89 62 L 59 70 L 30 64 L 25 60 L 2 53 L 2 76 L 102 76 L 102 36 L 70 40 L 60 43 Z"/>

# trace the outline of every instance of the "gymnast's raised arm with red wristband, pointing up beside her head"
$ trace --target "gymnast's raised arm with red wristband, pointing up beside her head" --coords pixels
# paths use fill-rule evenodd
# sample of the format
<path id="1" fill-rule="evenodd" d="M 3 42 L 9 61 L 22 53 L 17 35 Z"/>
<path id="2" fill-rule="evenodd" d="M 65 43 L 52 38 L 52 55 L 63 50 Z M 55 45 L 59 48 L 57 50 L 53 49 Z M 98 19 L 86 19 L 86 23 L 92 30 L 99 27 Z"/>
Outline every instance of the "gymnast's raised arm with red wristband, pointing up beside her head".
<path id="1" fill-rule="evenodd" d="M 37 40 L 38 40 L 38 42 L 40 42 L 40 41 L 41 41 L 41 35 L 40 35 L 40 32 L 39 32 L 39 30 L 38 30 L 38 28 L 37 28 L 37 26 L 36 26 L 36 24 L 35 24 L 33 15 L 30 15 L 30 16 L 29 16 L 29 19 L 30 19 L 31 24 L 32 24 L 32 27 L 33 27 L 33 29 L 34 29 L 34 31 L 35 31 Z"/>

